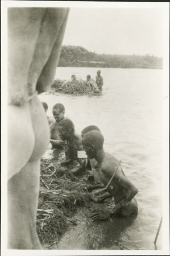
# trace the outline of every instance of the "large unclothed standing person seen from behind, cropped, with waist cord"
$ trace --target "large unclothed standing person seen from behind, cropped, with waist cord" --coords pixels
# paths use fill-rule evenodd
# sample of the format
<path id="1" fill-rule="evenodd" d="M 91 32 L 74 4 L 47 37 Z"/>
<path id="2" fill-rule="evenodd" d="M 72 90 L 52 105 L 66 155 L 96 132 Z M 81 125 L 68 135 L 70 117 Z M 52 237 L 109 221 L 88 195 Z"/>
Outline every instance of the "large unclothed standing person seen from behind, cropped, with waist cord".
<path id="1" fill-rule="evenodd" d="M 49 125 L 37 93 L 53 82 L 67 16 L 62 8 L 8 9 L 8 249 L 41 249 L 36 209 Z"/>

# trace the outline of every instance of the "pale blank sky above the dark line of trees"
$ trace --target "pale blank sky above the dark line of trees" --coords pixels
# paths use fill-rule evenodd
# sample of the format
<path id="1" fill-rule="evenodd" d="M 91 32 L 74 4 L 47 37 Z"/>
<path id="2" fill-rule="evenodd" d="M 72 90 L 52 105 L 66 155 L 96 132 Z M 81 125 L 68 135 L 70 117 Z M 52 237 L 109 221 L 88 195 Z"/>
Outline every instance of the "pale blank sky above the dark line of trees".
<path id="1" fill-rule="evenodd" d="M 161 9 L 71 8 L 63 45 L 122 55 L 163 56 Z"/>

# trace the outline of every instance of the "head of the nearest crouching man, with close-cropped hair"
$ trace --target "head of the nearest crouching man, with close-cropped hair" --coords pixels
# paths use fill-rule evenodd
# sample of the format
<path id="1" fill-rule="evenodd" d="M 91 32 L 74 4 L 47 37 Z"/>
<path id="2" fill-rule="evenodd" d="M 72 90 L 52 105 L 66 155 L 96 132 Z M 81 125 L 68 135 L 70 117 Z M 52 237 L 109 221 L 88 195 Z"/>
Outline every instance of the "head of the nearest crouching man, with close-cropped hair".
<path id="1" fill-rule="evenodd" d="M 104 137 L 100 131 L 89 131 L 82 138 L 82 145 L 88 158 L 96 158 L 97 151 L 103 150 Z"/>

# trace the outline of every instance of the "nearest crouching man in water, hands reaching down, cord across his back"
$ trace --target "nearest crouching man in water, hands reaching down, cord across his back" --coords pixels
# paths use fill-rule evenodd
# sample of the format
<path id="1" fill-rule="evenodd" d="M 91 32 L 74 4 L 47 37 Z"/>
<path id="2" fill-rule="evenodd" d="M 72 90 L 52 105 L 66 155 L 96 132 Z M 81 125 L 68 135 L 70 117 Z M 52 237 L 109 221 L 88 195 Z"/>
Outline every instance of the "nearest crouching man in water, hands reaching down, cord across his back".
<path id="1" fill-rule="evenodd" d="M 82 145 L 88 158 L 98 162 L 97 170 L 102 183 L 106 186 L 111 177 L 107 191 L 114 197 L 115 207 L 92 215 L 92 220 L 106 220 L 114 213 L 130 216 L 138 213 L 138 204 L 134 196 L 138 189 L 127 179 L 118 160 L 103 150 L 103 135 L 99 131 L 89 131 L 82 138 Z"/>

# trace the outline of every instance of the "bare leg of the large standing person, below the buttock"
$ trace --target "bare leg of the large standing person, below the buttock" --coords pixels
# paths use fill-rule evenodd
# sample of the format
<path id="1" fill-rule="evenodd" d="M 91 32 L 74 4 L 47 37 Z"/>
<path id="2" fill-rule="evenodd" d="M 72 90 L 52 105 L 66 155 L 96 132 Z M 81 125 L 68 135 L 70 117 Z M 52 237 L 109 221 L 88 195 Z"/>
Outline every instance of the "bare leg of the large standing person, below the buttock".
<path id="1" fill-rule="evenodd" d="M 28 162 L 8 181 L 8 246 L 11 249 L 39 249 L 36 209 L 40 163 Z"/>

